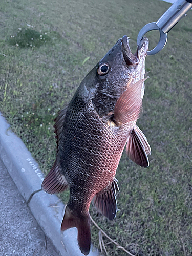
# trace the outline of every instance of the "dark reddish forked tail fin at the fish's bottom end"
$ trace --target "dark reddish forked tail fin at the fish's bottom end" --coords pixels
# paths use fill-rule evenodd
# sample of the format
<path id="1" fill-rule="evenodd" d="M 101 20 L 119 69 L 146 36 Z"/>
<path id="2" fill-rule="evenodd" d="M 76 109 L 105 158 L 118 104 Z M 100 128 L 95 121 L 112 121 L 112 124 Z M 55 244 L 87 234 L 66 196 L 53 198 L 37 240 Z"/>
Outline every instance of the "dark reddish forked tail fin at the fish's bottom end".
<path id="1" fill-rule="evenodd" d="M 65 215 L 61 223 L 61 231 L 76 227 L 78 230 L 78 243 L 81 252 L 88 255 L 91 245 L 90 215 L 89 211 L 83 214 L 75 212 L 67 205 Z"/>

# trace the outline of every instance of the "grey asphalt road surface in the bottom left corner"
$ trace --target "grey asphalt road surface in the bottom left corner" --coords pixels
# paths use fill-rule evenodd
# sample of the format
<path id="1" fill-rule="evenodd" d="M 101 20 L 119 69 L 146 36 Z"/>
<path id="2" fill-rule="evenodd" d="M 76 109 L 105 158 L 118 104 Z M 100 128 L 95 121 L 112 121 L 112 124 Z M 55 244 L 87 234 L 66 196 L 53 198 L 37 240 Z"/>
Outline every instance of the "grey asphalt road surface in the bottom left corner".
<path id="1" fill-rule="evenodd" d="M 0 159 L 0 255 L 58 256 Z"/>

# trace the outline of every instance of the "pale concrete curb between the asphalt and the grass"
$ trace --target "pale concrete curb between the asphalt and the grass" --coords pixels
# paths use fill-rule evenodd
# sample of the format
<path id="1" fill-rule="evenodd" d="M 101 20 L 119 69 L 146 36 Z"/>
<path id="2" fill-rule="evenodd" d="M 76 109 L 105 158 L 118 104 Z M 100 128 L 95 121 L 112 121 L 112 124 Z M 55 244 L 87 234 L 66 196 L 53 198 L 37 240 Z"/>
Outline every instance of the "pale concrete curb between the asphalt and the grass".
<path id="1" fill-rule="evenodd" d="M 62 256 L 82 256 L 77 244 L 77 229 L 60 232 L 65 205 L 55 195 L 41 190 L 44 174 L 23 141 L 9 130 L 10 125 L 0 112 L 0 158 L 28 203 L 38 224 Z M 90 256 L 97 256 L 93 247 Z"/>

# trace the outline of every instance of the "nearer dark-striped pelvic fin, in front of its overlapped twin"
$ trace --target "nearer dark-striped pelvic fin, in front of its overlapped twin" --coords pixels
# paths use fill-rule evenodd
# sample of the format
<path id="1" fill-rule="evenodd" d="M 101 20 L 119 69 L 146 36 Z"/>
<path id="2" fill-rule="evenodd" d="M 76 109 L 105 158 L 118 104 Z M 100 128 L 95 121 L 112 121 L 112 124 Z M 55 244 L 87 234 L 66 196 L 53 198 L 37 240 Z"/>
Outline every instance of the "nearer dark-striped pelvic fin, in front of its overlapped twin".
<path id="1" fill-rule="evenodd" d="M 144 145 L 135 129 L 132 130 L 130 136 L 128 137 L 126 154 L 132 161 L 141 167 L 148 167 L 148 157 L 145 152 Z"/>

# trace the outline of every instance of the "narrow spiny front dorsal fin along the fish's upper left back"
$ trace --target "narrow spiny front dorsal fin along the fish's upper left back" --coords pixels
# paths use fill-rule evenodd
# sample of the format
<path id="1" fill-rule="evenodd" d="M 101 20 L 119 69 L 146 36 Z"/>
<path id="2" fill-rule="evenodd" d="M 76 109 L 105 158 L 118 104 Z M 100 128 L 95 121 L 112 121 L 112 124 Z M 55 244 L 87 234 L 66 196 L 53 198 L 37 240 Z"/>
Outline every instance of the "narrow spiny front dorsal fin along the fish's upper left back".
<path id="1" fill-rule="evenodd" d="M 57 139 L 57 153 L 59 151 L 59 145 L 60 145 L 60 140 L 61 140 L 61 135 L 62 135 L 62 127 L 63 127 L 63 123 L 66 118 L 67 110 L 68 110 L 68 105 L 65 106 L 64 109 L 59 111 L 58 116 L 54 120 L 55 124 L 53 127 L 55 128 L 54 133 L 56 134 L 55 138 Z"/>

